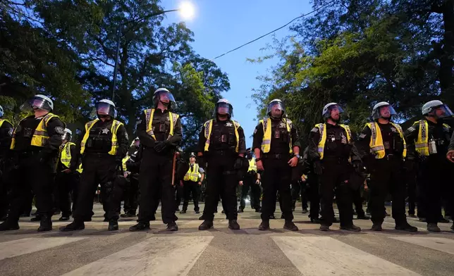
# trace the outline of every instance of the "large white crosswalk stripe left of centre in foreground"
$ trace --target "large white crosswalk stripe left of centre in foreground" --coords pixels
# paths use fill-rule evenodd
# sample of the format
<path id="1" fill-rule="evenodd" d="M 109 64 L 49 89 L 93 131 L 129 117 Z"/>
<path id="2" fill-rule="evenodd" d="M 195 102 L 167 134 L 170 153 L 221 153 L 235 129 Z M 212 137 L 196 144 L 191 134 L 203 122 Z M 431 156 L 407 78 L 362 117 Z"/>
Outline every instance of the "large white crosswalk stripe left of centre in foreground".
<path id="1" fill-rule="evenodd" d="M 98 261 L 68 272 L 71 275 L 187 275 L 213 239 L 152 237 Z"/>

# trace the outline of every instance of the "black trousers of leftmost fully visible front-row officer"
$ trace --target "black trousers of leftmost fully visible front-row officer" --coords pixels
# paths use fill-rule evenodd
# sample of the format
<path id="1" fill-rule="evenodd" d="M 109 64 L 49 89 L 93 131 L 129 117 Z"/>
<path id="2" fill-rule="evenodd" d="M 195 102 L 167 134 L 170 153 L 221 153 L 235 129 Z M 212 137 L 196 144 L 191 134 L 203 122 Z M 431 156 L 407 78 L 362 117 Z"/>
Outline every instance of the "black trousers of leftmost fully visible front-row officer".
<path id="1" fill-rule="evenodd" d="M 36 195 L 36 207 L 39 215 L 53 215 L 54 201 L 54 163 L 53 160 L 42 162 L 39 152 L 18 153 L 18 175 L 14 179 L 11 191 L 11 208 L 8 220 L 16 222 L 23 213 L 23 207 L 31 203 L 30 190 Z M 27 202 L 30 201 L 30 202 Z"/>

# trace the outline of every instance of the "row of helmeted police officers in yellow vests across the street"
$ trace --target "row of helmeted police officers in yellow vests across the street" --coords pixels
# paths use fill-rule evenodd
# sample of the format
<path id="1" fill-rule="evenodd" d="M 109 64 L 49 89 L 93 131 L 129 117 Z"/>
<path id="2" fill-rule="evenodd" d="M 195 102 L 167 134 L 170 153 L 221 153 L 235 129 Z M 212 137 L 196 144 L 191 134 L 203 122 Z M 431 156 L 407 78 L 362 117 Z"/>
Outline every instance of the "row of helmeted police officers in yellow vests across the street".
<path id="1" fill-rule="evenodd" d="M 68 194 L 69 189 L 77 189 L 77 196 L 73 206 L 74 221 L 62 227 L 61 231 L 85 228 L 84 222 L 92 216 L 93 194 L 98 184 L 101 185 L 109 230 L 118 230 L 120 204 L 125 192 L 121 181 L 122 168 L 129 146 L 123 123 L 115 119 L 114 103 L 104 99 L 96 104 L 97 119 L 85 125 L 75 144 L 70 143 L 70 131 L 66 130 L 65 124 L 52 113 L 54 105 L 47 96 L 34 96 L 21 109 L 33 111 L 34 115 L 21 120 L 16 128 L 13 129 L 6 120 L 0 120 L 2 160 L 11 160 L 14 168 L 22 172 L 11 186 L 8 216 L 0 225 L 0 230 L 19 228 L 20 210 L 26 200 L 23 192 L 27 189 L 32 189 L 36 195 L 41 221 L 38 230 L 51 230 L 54 211 L 52 193 L 57 169 L 60 178 L 73 176 L 70 180 L 59 182 L 78 182 L 63 189 L 63 194 Z M 176 101 L 171 92 L 159 88 L 154 92 L 153 108 L 146 109 L 140 116 L 137 125 L 140 162 L 134 163 L 139 167 L 135 175 L 140 193 L 139 214 L 137 224 L 130 227 L 130 231 L 149 229 L 149 221 L 154 220 L 159 201 L 167 230 L 178 230 L 175 186 L 180 179 L 176 173 L 176 153 L 182 139 L 182 126 L 179 115 L 173 112 L 175 109 Z M 360 231 L 360 227 L 352 222 L 352 202 L 366 173 L 371 175 L 369 210 L 372 230 L 381 230 L 386 216 L 384 201 L 391 193 L 395 229 L 417 231 L 405 217 L 403 172 L 404 168 L 413 166 L 419 168 L 415 177 L 424 189 L 422 206 L 427 215 L 427 229 L 440 231 L 437 222 L 441 214 L 441 191 L 450 191 L 453 195 L 452 185 L 449 185 L 451 164 L 448 162 L 453 162 L 454 158 L 454 142 L 449 145 L 453 131 L 444 123 L 446 118 L 453 116 L 448 106 L 441 101 L 424 104 L 424 118 L 404 132 L 400 125 L 393 122 L 397 114 L 391 104 L 377 103 L 372 112 L 374 120 L 365 125 L 356 142 L 350 127 L 340 123 L 342 114 L 343 109 L 338 103 L 324 106 L 324 122 L 312 129 L 307 151 L 300 156 L 297 130 L 287 117 L 283 102 L 274 99 L 267 106 L 266 118 L 260 120 L 254 130 L 252 151 L 255 159 L 252 159 L 252 151 L 246 150 L 243 128 L 232 120 L 233 106 L 225 99 L 219 100 L 213 119 L 204 123 L 200 132 L 198 163 L 195 163 L 195 156 L 191 156 L 188 171 L 182 180 L 187 184 L 188 192 L 197 198 L 199 177 L 203 175 L 203 180 L 204 172 L 207 172 L 204 221 L 199 229 L 208 230 L 214 226 L 219 199 L 228 218 L 228 227 L 240 229 L 238 211 L 243 211 L 245 203 L 242 199 L 240 208 L 237 208 L 236 187 L 238 184 L 243 186 L 247 193 L 249 187 L 257 188 L 254 184 L 262 182 L 262 222 L 259 230 L 269 230 L 269 218 L 274 214 L 278 193 L 285 218 L 283 228 L 297 231 L 293 223 L 290 184 L 301 177 L 300 173 L 295 173 L 300 171 L 298 167 L 306 165 L 309 175 L 314 175 L 319 184 L 322 219 L 317 221 L 322 231 L 328 231 L 333 223 L 335 195 L 340 229 Z M 76 177 L 79 174 L 80 180 Z M 253 194 L 254 208 L 260 211 L 259 196 L 255 196 L 259 192 Z M 453 196 L 450 199 L 448 208 L 452 209 Z M 188 203 L 185 202 L 182 212 L 187 208 Z M 68 206 L 63 209 L 66 214 L 70 212 Z M 197 204 L 195 211 L 199 211 Z M 131 212 L 135 214 L 135 211 Z"/>

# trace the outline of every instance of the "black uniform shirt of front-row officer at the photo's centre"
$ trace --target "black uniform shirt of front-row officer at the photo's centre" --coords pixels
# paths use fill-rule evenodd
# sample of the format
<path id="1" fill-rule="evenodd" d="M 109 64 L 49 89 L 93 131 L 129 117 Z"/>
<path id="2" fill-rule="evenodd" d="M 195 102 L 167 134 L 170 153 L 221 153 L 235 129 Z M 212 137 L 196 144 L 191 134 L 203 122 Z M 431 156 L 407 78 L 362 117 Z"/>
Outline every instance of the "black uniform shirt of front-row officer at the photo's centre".
<path id="1" fill-rule="evenodd" d="M 245 132 L 243 127 L 238 127 L 238 153 L 246 152 Z M 209 151 L 225 151 L 231 150 L 235 152 L 236 147 L 236 135 L 235 125 L 231 120 L 213 120 L 213 127 L 211 128 L 211 137 L 209 139 Z M 205 142 L 205 127 L 202 127 L 202 131 L 199 134 L 199 151 L 204 152 Z"/>

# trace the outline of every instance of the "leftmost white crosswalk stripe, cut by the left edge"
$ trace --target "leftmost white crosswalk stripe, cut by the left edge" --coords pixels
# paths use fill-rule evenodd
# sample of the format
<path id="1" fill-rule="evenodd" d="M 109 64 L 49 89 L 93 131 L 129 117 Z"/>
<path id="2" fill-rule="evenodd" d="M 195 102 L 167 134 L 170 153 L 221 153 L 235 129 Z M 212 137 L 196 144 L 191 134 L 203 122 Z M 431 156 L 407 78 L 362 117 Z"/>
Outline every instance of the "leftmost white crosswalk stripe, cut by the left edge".
<path id="1" fill-rule="evenodd" d="M 0 243 L 0 260 L 13 258 L 23 254 L 33 253 L 36 251 L 50 249 L 52 247 L 78 242 L 85 237 L 51 237 L 51 238 L 26 238 L 17 239 L 10 242 Z"/>

